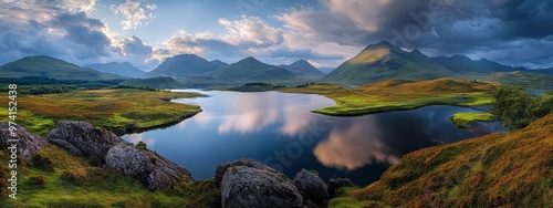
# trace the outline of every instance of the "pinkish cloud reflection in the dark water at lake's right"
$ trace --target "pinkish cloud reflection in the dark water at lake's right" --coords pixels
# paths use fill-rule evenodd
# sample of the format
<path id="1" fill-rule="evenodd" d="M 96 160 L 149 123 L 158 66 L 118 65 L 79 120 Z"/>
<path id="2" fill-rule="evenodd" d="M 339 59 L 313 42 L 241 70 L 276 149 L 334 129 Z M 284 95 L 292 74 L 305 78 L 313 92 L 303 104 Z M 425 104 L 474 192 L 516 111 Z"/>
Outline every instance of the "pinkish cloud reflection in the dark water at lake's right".
<path id="1" fill-rule="evenodd" d="M 351 126 L 334 128 L 328 139 L 317 144 L 314 154 L 327 167 L 354 170 L 366 164 L 395 164 L 399 157 L 392 153 L 379 138 L 379 132 L 371 116 L 353 121 Z"/>

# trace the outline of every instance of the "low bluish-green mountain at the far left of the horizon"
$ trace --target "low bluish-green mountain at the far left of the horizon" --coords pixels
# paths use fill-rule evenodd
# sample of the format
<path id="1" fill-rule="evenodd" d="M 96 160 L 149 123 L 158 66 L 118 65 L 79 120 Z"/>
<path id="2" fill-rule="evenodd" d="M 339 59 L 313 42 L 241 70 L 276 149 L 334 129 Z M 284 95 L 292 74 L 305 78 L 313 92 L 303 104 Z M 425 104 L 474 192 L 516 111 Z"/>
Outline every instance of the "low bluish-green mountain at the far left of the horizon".
<path id="1" fill-rule="evenodd" d="M 46 55 L 27 56 L 0 66 L 0 77 L 43 76 L 56 80 L 114 80 L 119 75 L 92 69 Z"/>

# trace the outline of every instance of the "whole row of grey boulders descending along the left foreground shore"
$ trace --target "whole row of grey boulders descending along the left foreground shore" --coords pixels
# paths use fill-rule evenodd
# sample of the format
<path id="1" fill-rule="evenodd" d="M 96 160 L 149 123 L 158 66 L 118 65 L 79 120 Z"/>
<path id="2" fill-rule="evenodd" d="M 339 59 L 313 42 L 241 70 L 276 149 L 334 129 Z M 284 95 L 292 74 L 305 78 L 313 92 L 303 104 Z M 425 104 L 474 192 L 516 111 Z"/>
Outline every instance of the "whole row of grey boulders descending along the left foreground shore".
<path id="1" fill-rule="evenodd" d="M 150 190 L 170 187 L 176 181 L 192 180 L 188 170 L 169 159 L 138 149 L 114 133 L 86 122 L 58 122 L 48 139 L 74 155 L 88 157 L 101 167 L 133 176 Z"/>

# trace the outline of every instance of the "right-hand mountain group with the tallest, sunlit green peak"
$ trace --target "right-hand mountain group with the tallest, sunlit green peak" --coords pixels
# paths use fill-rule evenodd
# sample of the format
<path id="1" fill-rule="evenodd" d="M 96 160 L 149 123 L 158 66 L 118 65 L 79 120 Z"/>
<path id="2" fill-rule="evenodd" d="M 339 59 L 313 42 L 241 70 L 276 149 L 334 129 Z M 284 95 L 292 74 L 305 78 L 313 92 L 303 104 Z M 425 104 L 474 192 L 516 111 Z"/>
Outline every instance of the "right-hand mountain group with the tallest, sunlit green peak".
<path id="1" fill-rule="evenodd" d="M 383 41 L 368 45 L 359 54 L 326 74 L 323 81 L 359 85 L 392 79 L 432 80 L 452 76 L 510 84 L 517 81 L 520 85 L 546 82 L 545 84 L 550 85 L 553 84 L 553 76 L 546 74 L 551 73 L 552 70 L 512 67 L 486 59 L 473 61 L 462 55 L 429 58 L 419 50 L 407 52 Z M 522 81 L 519 82 L 518 79 Z"/>

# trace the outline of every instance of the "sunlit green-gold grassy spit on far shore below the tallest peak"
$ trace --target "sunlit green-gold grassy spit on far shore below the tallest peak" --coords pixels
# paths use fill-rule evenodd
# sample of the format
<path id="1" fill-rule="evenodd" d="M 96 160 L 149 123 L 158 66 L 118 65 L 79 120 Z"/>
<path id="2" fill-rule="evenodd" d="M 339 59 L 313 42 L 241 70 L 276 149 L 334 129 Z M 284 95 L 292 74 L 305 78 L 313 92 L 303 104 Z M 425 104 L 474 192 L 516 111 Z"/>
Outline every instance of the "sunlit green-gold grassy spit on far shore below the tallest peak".
<path id="1" fill-rule="evenodd" d="M 492 102 L 495 85 L 458 79 L 431 81 L 392 80 L 355 89 L 330 84 L 285 89 L 288 93 L 321 94 L 333 98 L 335 106 L 315 110 L 316 113 L 353 116 L 395 110 L 413 110 L 426 105 L 447 104 L 478 106 Z"/>

